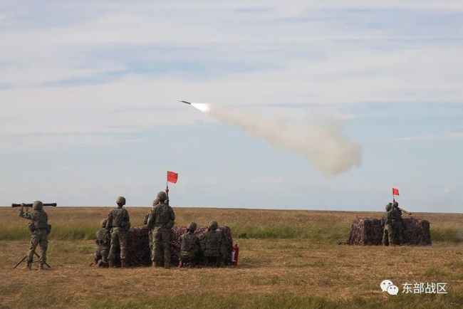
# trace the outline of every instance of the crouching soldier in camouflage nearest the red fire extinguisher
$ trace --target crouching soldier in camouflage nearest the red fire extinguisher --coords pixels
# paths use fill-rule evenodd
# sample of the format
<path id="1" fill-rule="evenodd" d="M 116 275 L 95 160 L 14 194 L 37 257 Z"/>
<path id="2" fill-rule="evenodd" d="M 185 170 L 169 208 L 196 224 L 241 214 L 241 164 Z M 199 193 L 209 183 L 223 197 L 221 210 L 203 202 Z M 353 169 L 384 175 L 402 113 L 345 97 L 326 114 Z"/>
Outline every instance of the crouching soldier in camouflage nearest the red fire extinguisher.
<path id="1" fill-rule="evenodd" d="M 210 221 L 207 231 L 200 237 L 206 266 L 219 267 L 222 261 L 222 234 L 218 228 L 217 221 Z"/>

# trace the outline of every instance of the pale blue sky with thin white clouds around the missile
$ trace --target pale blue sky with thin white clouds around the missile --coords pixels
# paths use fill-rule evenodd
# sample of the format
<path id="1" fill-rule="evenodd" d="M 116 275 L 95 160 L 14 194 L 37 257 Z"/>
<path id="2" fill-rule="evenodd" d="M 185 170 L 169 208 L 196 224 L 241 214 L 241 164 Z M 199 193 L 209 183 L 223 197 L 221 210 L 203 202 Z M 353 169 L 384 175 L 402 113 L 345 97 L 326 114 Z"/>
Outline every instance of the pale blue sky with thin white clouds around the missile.
<path id="1" fill-rule="evenodd" d="M 0 204 L 462 212 L 462 1 L 0 0 Z M 191 100 L 361 147 L 330 175 Z"/>

